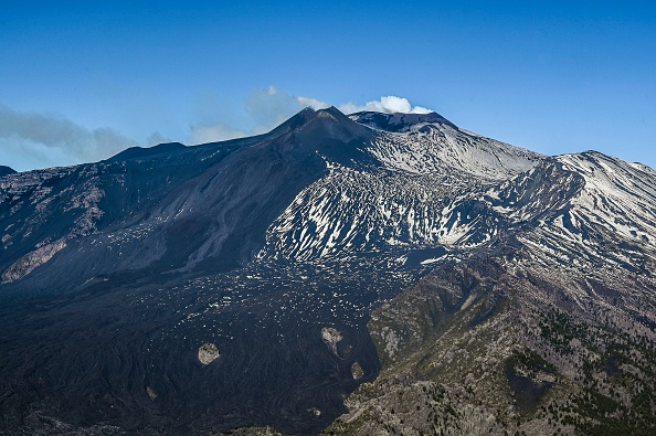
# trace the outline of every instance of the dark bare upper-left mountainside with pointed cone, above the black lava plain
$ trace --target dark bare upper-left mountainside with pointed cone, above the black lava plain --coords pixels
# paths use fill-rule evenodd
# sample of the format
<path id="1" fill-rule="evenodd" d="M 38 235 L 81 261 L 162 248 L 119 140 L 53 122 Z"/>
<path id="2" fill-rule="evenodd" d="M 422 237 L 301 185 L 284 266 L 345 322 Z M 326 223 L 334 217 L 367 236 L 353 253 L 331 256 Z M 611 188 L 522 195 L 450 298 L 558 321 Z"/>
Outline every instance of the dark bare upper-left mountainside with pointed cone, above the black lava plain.
<path id="1" fill-rule="evenodd" d="M 363 163 L 357 147 L 370 137 L 336 109 L 306 110 L 256 141 L 129 149 L 7 179 L 2 280 L 50 288 L 65 272 L 55 281 L 71 288 L 126 270 L 245 265 L 271 222 L 326 172 L 326 157 Z"/>

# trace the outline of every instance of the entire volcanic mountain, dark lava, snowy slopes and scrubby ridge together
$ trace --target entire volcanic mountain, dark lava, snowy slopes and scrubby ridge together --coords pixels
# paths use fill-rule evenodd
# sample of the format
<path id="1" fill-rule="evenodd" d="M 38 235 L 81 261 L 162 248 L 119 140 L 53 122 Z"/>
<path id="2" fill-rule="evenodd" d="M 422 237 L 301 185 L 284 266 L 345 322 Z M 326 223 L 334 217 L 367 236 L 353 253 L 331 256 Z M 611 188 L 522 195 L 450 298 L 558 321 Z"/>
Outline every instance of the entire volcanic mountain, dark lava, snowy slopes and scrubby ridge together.
<path id="1" fill-rule="evenodd" d="M 0 428 L 652 434 L 655 176 L 335 108 L 0 176 Z"/>

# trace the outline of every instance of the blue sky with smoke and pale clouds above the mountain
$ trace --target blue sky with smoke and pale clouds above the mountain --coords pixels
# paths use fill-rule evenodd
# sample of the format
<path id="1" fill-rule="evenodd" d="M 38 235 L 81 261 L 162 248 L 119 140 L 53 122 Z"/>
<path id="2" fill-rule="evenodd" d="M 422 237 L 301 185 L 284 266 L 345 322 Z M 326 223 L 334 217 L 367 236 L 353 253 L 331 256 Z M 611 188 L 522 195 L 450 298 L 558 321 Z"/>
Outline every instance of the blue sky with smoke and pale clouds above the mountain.
<path id="1" fill-rule="evenodd" d="M 656 4 L 0 3 L 0 164 L 17 170 L 390 95 L 543 153 L 656 167 Z"/>

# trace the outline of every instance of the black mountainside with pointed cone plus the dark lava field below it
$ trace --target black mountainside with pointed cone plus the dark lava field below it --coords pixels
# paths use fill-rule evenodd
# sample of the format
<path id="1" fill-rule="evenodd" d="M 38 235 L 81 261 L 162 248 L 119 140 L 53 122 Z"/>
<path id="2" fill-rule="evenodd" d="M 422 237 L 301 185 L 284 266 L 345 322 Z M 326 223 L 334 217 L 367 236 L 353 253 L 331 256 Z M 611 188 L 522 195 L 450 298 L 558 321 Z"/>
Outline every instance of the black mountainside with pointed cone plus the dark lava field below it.
<path id="1" fill-rule="evenodd" d="M 375 135 L 336 109 L 304 110 L 260 137 L 3 179 L 3 425 L 325 427 L 359 383 L 351 366 L 378 372 L 371 305 L 411 275 L 384 258 L 369 260 L 373 276 L 355 260 L 253 260 L 327 162 L 375 164 Z M 204 343 L 220 353 L 207 365 Z"/>

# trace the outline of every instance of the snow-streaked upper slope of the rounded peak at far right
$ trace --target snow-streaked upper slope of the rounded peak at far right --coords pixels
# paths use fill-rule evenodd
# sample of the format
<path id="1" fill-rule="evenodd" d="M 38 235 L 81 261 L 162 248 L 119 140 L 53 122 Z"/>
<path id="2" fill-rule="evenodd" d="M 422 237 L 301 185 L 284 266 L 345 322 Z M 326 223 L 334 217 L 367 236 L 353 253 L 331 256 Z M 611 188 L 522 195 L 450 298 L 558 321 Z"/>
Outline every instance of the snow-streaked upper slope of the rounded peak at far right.
<path id="1" fill-rule="evenodd" d="M 486 190 L 536 258 L 634 268 L 656 253 L 654 170 L 599 152 L 549 158 Z"/>

